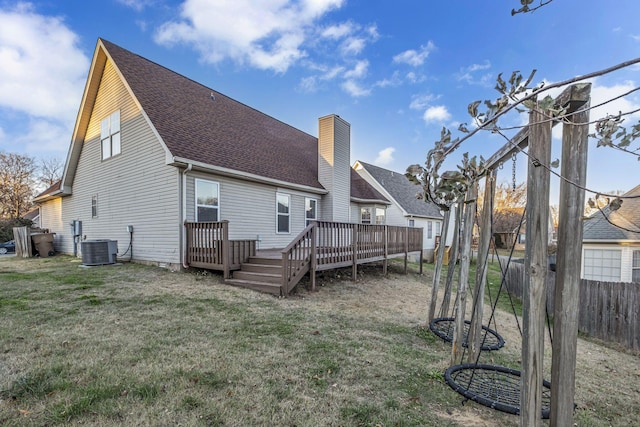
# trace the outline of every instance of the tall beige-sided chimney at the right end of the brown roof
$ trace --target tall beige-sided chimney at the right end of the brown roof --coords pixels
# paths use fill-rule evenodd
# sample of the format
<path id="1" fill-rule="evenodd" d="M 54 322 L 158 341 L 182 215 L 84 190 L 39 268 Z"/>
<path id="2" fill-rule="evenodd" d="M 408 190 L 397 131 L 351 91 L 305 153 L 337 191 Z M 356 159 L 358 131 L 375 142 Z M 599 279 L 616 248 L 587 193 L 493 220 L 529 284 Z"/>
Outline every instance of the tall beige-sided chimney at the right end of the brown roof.
<path id="1" fill-rule="evenodd" d="M 351 202 L 350 125 L 330 115 L 318 121 L 318 181 L 329 191 L 322 197 L 321 220 L 348 222 Z"/>

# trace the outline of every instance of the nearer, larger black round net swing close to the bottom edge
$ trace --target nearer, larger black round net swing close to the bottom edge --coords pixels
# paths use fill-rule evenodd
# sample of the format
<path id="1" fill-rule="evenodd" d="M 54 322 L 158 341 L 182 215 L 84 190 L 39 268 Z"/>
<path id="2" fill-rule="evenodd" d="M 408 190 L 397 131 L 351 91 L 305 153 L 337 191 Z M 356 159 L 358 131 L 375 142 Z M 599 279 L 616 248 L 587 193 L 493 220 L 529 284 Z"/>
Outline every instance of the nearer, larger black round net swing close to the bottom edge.
<path id="1" fill-rule="evenodd" d="M 466 363 L 444 374 L 447 384 L 469 400 L 509 414 L 520 414 L 520 371 L 495 365 Z M 551 383 L 542 386 L 542 418 L 549 418 Z"/>

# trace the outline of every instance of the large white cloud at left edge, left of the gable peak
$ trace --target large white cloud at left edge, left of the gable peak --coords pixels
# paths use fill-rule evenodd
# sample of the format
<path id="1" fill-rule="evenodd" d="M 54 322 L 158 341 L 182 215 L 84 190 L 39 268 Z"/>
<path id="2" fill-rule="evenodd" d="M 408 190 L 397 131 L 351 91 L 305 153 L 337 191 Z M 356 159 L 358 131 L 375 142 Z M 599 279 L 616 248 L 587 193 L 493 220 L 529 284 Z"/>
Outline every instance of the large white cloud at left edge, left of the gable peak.
<path id="1" fill-rule="evenodd" d="M 29 3 L 0 8 L 0 149 L 66 153 L 90 63 L 78 43 Z"/>

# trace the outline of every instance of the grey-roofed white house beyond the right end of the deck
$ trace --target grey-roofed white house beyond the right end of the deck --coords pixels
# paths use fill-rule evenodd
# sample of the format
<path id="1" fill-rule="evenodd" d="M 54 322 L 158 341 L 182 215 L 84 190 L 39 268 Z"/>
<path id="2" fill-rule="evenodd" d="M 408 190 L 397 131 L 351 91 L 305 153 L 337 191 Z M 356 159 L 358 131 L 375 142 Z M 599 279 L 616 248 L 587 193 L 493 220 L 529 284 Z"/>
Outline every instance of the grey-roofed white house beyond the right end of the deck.
<path id="1" fill-rule="evenodd" d="M 386 209 L 386 224 L 423 229 L 423 256 L 432 262 L 436 237 L 442 232 L 443 215 L 440 208 L 434 203 L 418 199 L 416 196 L 422 189 L 402 173 L 360 160 L 354 163 L 353 169 L 391 202 Z M 363 208 L 361 217 L 373 215 L 365 209 Z M 384 210 L 380 212 L 383 214 Z M 451 224 L 453 226 L 453 222 Z M 448 239 L 447 245 L 451 244 L 451 239 L 452 237 Z"/>

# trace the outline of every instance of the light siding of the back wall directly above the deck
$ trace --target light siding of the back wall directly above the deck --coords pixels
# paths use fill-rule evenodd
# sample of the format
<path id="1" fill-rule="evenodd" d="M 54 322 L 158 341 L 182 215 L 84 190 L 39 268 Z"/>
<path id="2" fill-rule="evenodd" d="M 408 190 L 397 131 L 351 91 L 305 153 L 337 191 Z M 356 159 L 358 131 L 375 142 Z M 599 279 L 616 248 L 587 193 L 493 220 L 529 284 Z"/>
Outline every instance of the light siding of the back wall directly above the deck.
<path id="1" fill-rule="evenodd" d="M 259 249 L 284 248 L 306 227 L 305 198 L 322 202 L 317 194 L 289 190 L 226 176 L 189 172 L 187 175 L 187 220 L 195 221 L 195 180 L 220 185 L 220 220 L 229 221 L 229 238 L 255 240 Z M 290 196 L 290 232 L 276 233 L 276 194 Z"/>

